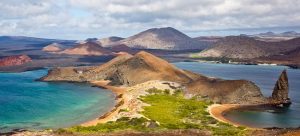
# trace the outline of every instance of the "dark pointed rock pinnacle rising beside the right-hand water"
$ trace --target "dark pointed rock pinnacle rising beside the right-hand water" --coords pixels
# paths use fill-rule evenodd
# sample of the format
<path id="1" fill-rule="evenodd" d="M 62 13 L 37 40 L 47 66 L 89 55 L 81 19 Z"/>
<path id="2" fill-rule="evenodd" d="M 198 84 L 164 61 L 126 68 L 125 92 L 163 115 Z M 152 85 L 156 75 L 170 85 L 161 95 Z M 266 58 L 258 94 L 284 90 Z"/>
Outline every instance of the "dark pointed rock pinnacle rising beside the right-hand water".
<path id="1" fill-rule="evenodd" d="M 281 104 L 289 104 L 290 98 L 288 96 L 289 94 L 289 81 L 287 77 L 287 72 L 284 70 L 281 75 L 279 76 L 273 93 L 272 93 L 272 102 L 273 103 L 281 103 Z"/>

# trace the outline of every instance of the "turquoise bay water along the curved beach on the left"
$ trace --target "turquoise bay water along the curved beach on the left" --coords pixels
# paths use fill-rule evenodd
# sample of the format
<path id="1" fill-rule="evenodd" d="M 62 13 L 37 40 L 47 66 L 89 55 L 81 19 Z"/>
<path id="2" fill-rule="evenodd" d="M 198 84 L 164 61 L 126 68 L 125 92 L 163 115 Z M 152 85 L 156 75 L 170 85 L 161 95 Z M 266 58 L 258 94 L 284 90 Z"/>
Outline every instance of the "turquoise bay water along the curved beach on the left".
<path id="1" fill-rule="evenodd" d="M 79 83 L 34 81 L 47 70 L 0 73 L 0 132 L 68 127 L 114 106 L 110 91 Z"/>

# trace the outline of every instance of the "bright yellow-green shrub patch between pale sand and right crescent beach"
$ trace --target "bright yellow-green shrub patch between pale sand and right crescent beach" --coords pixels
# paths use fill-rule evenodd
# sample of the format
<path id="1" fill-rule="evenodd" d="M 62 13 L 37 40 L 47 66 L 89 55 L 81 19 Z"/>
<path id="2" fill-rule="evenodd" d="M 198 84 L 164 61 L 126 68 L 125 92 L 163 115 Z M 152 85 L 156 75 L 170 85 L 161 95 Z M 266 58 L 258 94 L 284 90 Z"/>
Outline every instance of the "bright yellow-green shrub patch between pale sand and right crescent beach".
<path id="1" fill-rule="evenodd" d="M 221 123 L 209 116 L 206 111 L 211 104 L 208 101 L 185 99 L 182 94 L 154 94 L 141 98 L 151 106 L 144 107 L 145 117 L 160 123 L 165 129 L 202 129 L 212 131 L 214 135 L 240 136 L 246 134 L 243 127 L 234 127 Z"/>

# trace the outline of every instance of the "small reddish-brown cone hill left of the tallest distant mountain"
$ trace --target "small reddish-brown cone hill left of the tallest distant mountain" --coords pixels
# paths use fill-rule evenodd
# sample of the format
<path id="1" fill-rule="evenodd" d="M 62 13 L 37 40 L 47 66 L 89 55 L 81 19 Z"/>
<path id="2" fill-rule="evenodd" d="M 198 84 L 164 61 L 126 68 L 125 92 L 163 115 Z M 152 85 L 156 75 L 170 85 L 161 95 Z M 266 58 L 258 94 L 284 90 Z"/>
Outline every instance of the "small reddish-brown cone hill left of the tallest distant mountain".
<path id="1" fill-rule="evenodd" d="M 86 42 L 76 45 L 75 47 L 65 49 L 62 54 L 69 55 L 90 55 L 90 56 L 98 56 L 98 55 L 108 55 L 111 54 L 111 51 L 103 48 L 100 44 L 95 42 Z"/>

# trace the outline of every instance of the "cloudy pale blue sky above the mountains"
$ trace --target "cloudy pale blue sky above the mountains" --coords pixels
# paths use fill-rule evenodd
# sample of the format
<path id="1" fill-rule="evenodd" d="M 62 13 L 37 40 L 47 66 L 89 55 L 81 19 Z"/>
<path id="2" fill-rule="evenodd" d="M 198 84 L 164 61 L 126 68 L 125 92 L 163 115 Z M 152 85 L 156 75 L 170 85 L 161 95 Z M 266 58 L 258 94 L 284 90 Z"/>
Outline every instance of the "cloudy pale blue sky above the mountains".
<path id="1" fill-rule="evenodd" d="M 191 37 L 300 31 L 300 0 L 1 0 L 0 35 L 128 37 L 173 27 Z"/>

